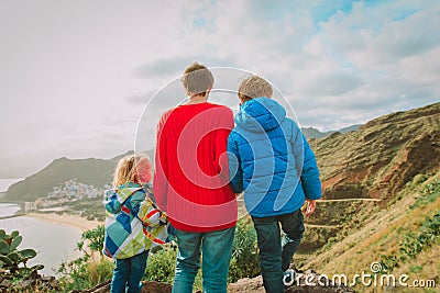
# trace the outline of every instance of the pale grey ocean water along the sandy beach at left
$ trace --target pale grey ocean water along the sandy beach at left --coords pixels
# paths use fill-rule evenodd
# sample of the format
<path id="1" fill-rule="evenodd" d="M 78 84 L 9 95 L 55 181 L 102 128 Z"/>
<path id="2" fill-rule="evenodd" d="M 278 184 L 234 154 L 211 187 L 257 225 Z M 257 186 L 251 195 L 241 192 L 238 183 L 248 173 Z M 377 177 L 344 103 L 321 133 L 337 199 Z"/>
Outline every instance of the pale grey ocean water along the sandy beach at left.
<path id="1" fill-rule="evenodd" d="M 9 185 L 20 180 L 0 179 L 0 191 L 7 191 Z M 18 211 L 20 206 L 15 204 L 0 203 L 0 217 L 13 215 Z M 82 232 L 76 227 L 19 216 L 0 219 L 0 229 L 4 229 L 7 234 L 19 230 L 23 237 L 19 249 L 32 248 L 37 251 L 36 257 L 28 261 L 28 267 L 44 264 L 44 269 L 38 271 L 44 275 L 55 275 L 63 261 L 81 256 L 75 248 Z"/>

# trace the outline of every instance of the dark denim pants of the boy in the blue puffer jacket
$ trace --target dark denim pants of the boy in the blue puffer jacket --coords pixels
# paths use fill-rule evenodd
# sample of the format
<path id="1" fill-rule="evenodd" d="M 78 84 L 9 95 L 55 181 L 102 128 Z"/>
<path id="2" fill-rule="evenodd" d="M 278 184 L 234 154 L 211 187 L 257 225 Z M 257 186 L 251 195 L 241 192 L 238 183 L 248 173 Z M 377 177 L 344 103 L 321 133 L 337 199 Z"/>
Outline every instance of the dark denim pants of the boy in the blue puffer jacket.
<path id="1" fill-rule="evenodd" d="M 267 293 L 282 293 L 283 273 L 289 268 L 302 238 L 302 213 L 297 210 L 284 215 L 252 217 L 252 221 L 256 230 L 264 289 Z M 284 232 L 283 239 L 279 224 Z"/>

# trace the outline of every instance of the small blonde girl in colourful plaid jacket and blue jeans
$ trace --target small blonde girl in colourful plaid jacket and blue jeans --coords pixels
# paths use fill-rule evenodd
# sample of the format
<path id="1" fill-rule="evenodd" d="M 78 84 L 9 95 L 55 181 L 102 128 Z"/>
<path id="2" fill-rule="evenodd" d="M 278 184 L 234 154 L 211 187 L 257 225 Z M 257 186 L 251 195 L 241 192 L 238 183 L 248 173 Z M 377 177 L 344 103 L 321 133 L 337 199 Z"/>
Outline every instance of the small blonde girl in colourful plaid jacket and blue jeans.
<path id="1" fill-rule="evenodd" d="M 166 215 L 153 203 L 152 166 L 146 156 L 130 155 L 117 166 L 107 210 L 103 253 L 116 260 L 111 293 L 140 292 L 150 248 L 168 241 Z"/>

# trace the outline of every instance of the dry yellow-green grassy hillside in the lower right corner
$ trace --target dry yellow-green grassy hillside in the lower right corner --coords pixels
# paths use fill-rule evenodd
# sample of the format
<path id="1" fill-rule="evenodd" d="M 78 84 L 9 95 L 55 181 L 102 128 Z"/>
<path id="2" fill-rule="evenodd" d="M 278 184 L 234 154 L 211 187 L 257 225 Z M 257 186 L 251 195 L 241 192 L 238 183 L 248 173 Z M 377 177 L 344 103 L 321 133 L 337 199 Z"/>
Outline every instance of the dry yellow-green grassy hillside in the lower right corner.
<path id="1" fill-rule="evenodd" d="M 440 172 L 428 178 L 416 177 L 385 209 L 373 209 L 367 216 L 354 216 L 341 230 L 346 236 L 333 238 L 312 257 L 307 268 L 327 275 L 345 274 L 353 278 L 362 272 L 372 274 L 376 262 L 383 274 L 396 278 L 407 274 L 408 284 L 424 280 L 439 286 L 440 261 Z M 358 223 L 354 223 L 356 221 Z M 377 264 L 378 263 L 378 264 Z M 360 292 L 383 292 L 381 286 L 358 284 Z M 400 286 L 405 292 L 420 289 Z M 438 292 L 425 288 L 422 292 Z"/>

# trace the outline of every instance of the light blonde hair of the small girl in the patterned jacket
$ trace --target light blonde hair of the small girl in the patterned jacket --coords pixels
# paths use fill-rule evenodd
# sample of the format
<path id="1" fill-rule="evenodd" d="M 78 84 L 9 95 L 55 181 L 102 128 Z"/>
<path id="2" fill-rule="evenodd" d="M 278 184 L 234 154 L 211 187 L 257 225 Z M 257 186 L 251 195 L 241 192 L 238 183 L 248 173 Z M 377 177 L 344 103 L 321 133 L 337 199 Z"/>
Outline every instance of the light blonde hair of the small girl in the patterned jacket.
<path id="1" fill-rule="evenodd" d="M 129 182 L 140 183 L 138 178 L 138 166 L 145 162 L 145 168 L 151 169 L 152 165 L 146 155 L 128 155 L 119 160 L 113 174 L 113 187 L 120 187 Z"/>

